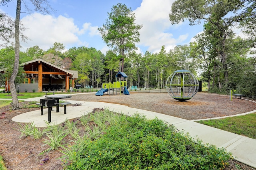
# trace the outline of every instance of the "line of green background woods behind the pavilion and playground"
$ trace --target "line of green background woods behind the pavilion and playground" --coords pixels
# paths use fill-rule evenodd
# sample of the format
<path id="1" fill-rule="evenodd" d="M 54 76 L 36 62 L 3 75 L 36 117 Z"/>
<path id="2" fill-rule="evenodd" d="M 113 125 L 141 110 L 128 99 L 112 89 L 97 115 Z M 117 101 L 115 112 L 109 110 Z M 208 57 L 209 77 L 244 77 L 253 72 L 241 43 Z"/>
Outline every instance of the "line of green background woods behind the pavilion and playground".
<path id="1" fill-rule="evenodd" d="M 250 49 L 246 47 L 244 39 L 236 37 L 228 43 L 228 85 L 225 84 L 224 71 L 221 68 L 221 59 L 210 58 L 204 51 L 204 37 L 198 36 L 199 43 L 177 45 L 166 51 L 162 46 L 159 53 L 146 51 L 143 55 L 132 51 L 128 53 L 124 62 L 124 72 L 128 75 L 128 86 L 140 88 L 164 88 L 165 81 L 172 72 L 179 69 L 190 70 L 199 80 L 208 83 L 209 90 L 214 92 L 228 92 L 237 89 L 247 96 L 255 98 L 255 57 L 248 57 Z M 203 41 L 203 42 L 201 42 Z M 245 46 L 245 47 L 244 47 Z M 43 59 L 66 70 L 78 70 L 77 84 L 92 85 L 101 88 L 102 83 L 116 81 L 115 75 L 119 71 L 120 58 L 112 50 L 104 55 L 100 50 L 88 47 L 72 47 L 65 52 L 61 43 L 46 51 L 38 46 L 30 47 L 20 52 L 20 63 L 33 59 Z M 0 50 L 2 68 L 12 66 L 14 62 L 14 48 Z M 12 70 L 10 69 L 9 73 Z M 200 74 L 199 74 L 200 72 Z M 17 76 L 17 82 L 23 82 L 22 67 Z M 3 83 L 8 74 L 2 74 Z"/>

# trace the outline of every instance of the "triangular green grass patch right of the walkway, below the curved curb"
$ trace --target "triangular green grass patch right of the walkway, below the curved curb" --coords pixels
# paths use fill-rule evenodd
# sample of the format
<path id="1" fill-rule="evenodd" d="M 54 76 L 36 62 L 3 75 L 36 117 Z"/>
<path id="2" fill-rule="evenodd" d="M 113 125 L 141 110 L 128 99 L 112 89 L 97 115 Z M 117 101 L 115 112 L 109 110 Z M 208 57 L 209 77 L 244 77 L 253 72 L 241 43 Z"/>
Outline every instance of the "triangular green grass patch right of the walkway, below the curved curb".
<path id="1" fill-rule="evenodd" d="M 256 139 L 256 113 L 224 119 L 198 121 L 198 123 Z"/>

